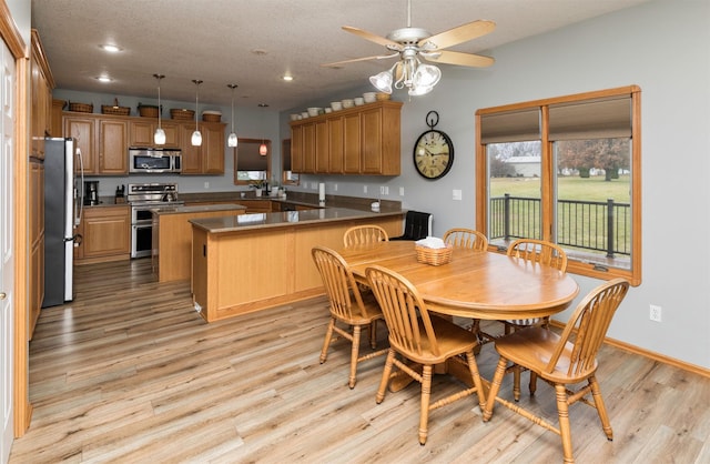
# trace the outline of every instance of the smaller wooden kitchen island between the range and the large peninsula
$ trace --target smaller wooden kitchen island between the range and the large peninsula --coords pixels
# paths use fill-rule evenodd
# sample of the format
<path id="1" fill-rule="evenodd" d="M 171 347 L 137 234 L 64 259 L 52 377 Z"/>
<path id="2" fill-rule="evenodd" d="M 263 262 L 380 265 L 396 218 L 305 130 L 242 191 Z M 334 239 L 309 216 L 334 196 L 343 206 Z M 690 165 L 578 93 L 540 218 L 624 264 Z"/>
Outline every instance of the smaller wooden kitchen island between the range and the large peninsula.
<path id="1" fill-rule="evenodd" d="M 210 204 L 161 205 L 153 210 L 153 272 L 159 282 L 190 279 L 192 225 L 190 220 L 244 214 L 246 206 Z"/>

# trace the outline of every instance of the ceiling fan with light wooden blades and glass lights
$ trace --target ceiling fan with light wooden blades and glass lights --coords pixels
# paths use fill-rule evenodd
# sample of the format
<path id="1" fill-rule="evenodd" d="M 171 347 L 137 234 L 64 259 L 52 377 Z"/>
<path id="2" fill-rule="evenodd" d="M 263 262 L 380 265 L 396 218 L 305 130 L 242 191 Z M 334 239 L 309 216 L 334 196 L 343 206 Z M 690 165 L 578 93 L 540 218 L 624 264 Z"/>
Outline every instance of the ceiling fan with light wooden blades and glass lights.
<path id="1" fill-rule="evenodd" d="M 412 27 L 412 0 L 407 0 L 407 27 L 389 32 L 386 38 L 363 29 L 343 26 L 343 30 L 369 40 L 371 42 L 384 46 L 394 53 L 356 58 L 321 65 L 335 68 L 356 61 L 383 60 L 399 57 L 399 61 L 388 71 L 383 71 L 371 77 L 369 81 L 382 92 L 392 93 L 394 85 L 395 89 L 406 87 L 410 95 L 423 95 L 434 89 L 434 85 L 436 85 L 442 78 L 442 71 L 435 65 L 422 63 L 420 59 L 436 63 L 474 68 L 489 67 L 495 61 L 490 57 L 444 49 L 490 33 L 495 28 L 496 23 L 493 21 L 478 20 L 437 34 L 432 34 L 425 29 Z"/>

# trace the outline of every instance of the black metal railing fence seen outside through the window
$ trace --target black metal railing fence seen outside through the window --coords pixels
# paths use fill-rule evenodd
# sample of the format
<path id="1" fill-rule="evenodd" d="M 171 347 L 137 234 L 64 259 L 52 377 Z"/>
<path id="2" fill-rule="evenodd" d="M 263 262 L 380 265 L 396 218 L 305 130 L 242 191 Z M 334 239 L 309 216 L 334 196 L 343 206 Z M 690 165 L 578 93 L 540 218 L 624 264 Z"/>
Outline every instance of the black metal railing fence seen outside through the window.
<path id="1" fill-rule="evenodd" d="M 490 240 L 541 239 L 540 199 L 490 199 Z M 631 254 L 631 205 L 558 200 L 557 240 L 564 246 L 605 252 L 607 258 Z"/>

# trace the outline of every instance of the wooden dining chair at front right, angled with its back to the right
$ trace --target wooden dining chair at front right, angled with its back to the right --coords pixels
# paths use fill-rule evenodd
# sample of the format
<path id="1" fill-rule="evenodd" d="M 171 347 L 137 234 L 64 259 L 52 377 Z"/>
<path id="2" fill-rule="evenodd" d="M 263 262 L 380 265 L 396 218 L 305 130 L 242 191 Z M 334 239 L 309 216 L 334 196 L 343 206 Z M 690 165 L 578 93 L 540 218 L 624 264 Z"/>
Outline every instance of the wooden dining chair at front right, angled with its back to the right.
<path id="1" fill-rule="evenodd" d="M 608 440 L 612 440 L 611 424 L 597 382 L 597 352 L 604 342 L 609 324 L 629 290 L 629 282 L 615 279 L 594 289 L 577 305 L 561 334 L 549 327 L 531 326 L 515 331 L 496 340 L 500 355 L 484 408 L 484 421 L 489 421 L 496 402 L 534 423 L 555 432 L 562 440 L 566 463 L 574 463 L 571 427 L 568 406 L 581 401 L 595 407 Z M 511 362 L 535 372 L 555 387 L 559 426 L 498 396 L 500 382 Z M 586 382 L 576 392 L 568 385 Z M 585 396 L 591 393 L 591 401 Z"/>

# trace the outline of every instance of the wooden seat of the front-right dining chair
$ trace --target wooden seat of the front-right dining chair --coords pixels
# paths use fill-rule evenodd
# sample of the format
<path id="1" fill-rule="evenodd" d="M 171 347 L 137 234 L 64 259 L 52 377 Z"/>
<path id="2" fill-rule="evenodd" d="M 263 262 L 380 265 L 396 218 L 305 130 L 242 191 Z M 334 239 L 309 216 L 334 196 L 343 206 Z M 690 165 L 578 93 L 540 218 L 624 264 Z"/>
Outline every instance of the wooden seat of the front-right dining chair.
<path id="1" fill-rule="evenodd" d="M 547 371 L 559 341 L 560 336 L 548 329 L 526 327 L 497 339 L 496 351 L 515 364 L 525 365 L 540 377 L 556 383 L 577 383 L 589 377 L 597 370 L 595 361 L 592 369 L 569 375 L 568 370 L 574 345 L 567 342 L 555 370 Z"/>

